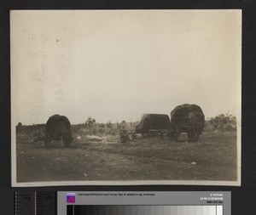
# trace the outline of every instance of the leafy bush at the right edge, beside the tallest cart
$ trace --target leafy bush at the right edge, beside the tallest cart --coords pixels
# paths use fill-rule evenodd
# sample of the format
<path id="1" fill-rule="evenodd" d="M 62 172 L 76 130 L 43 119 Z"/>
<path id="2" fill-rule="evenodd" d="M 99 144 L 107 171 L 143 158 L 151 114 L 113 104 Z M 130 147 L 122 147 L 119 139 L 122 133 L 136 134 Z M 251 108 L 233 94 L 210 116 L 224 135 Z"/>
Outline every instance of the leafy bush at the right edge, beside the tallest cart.
<path id="1" fill-rule="evenodd" d="M 218 116 L 210 118 L 206 122 L 206 127 L 213 131 L 236 131 L 236 116 L 232 116 L 229 113 L 219 114 Z"/>

